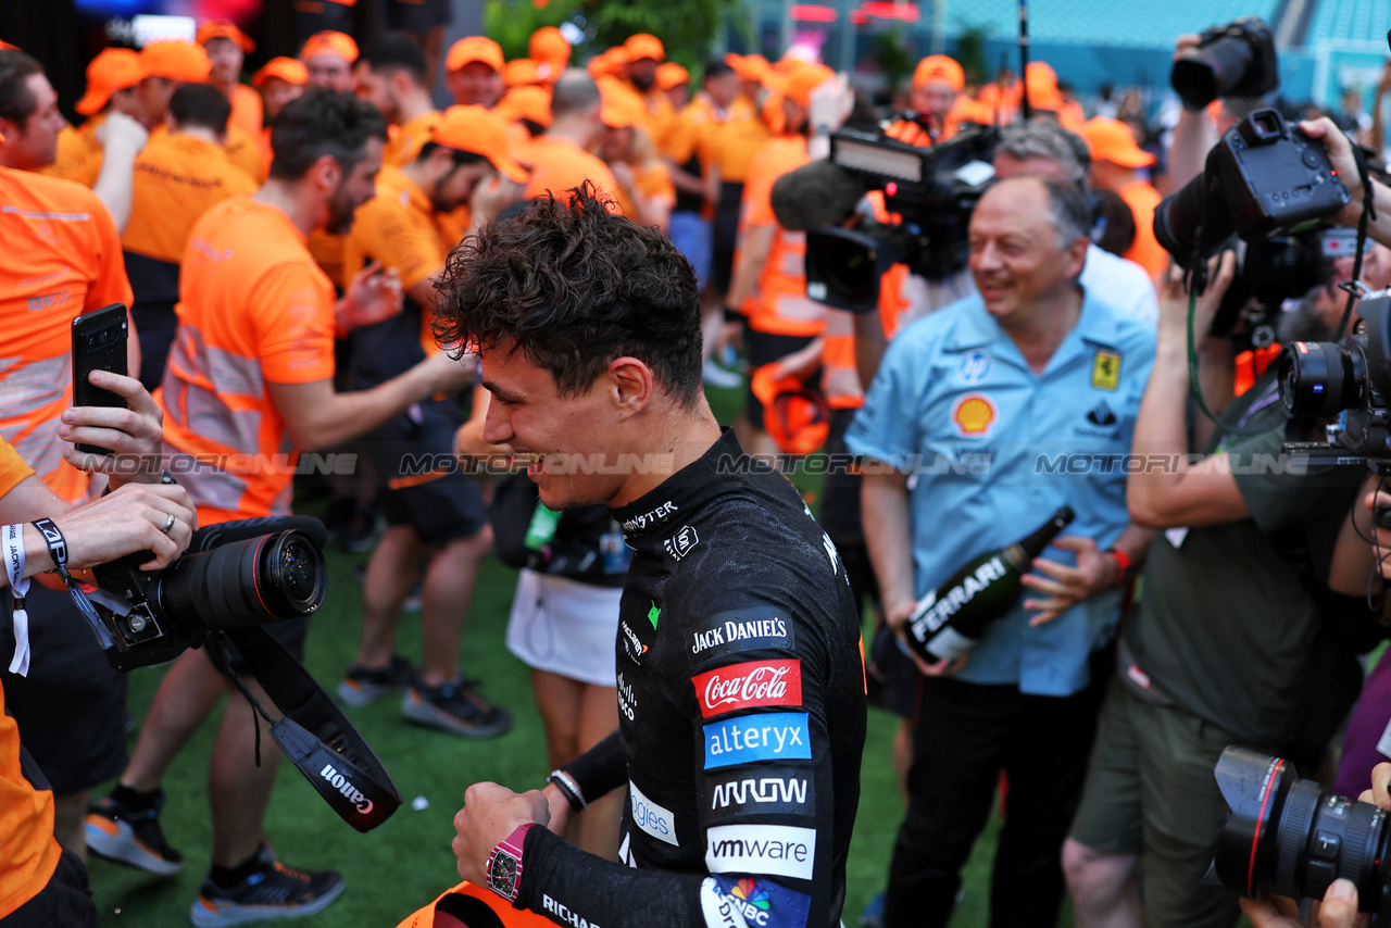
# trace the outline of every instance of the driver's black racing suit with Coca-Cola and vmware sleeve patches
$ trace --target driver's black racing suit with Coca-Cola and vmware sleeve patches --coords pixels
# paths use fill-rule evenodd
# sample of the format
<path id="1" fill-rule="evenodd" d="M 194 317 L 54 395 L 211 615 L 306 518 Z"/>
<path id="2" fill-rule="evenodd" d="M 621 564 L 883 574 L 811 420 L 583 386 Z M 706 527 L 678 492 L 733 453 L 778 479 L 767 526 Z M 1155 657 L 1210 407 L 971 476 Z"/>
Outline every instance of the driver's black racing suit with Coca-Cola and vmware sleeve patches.
<path id="1" fill-rule="evenodd" d="M 865 737 L 835 545 L 733 434 L 616 509 L 619 730 L 566 765 L 629 787 L 618 864 L 527 832 L 517 907 L 570 928 L 833 927 Z"/>

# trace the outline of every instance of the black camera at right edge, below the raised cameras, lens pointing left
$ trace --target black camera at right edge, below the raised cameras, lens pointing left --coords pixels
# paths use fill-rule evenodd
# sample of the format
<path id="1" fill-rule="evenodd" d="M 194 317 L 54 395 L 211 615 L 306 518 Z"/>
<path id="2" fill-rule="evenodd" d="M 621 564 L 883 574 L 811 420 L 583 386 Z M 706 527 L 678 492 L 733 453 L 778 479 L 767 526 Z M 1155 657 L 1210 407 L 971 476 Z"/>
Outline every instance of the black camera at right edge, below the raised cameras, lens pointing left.
<path id="1" fill-rule="evenodd" d="M 1333 419 L 1323 442 L 1288 442 L 1287 454 L 1324 465 L 1391 459 L 1391 296 L 1358 305 L 1362 323 L 1342 342 L 1292 342 L 1280 352 L 1287 415 Z"/>

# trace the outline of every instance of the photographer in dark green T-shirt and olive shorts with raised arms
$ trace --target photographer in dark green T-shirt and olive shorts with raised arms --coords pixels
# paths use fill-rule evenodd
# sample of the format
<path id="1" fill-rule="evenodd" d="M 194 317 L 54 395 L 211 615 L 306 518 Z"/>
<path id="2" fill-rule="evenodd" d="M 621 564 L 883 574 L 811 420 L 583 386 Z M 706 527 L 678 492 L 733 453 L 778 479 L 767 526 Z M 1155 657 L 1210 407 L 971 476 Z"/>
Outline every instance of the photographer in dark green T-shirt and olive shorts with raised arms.
<path id="1" fill-rule="evenodd" d="M 1206 334 L 1234 266 L 1231 255 L 1213 262 L 1192 320 L 1209 398 L 1231 395 L 1231 342 Z M 1274 369 L 1231 401 L 1216 434 L 1189 440 L 1188 306 L 1171 273 L 1132 448 L 1146 466 L 1131 470 L 1127 493 L 1131 518 L 1164 533 L 1150 547 L 1143 600 L 1123 623 L 1117 680 L 1063 851 L 1084 925 L 1138 927 L 1141 896 L 1146 924 L 1235 921 L 1237 896 L 1200 882 L 1225 817 L 1213 765 L 1227 744 L 1284 754 L 1303 735 L 1289 722 L 1310 687 L 1321 689 L 1310 678 L 1323 666 L 1314 655 L 1328 654 L 1319 597 L 1362 481 L 1353 467 L 1256 463 L 1281 461 L 1287 440 Z M 1193 462 L 1191 448 L 1207 456 Z"/>

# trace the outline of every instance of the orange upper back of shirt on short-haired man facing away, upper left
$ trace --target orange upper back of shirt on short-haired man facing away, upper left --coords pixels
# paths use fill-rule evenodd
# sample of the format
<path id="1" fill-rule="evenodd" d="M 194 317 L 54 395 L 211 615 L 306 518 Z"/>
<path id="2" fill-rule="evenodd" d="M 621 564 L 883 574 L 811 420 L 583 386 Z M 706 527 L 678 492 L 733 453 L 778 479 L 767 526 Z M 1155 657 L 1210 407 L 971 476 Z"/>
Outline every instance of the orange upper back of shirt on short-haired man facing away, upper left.
<path id="1" fill-rule="evenodd" d="M 164 135 L 135 159 L 131 221 L 121 235 L 128 252 L 178 264 L 203 213 L 228 196 L 256 192 L 227 153 L 191 135 Z"/>

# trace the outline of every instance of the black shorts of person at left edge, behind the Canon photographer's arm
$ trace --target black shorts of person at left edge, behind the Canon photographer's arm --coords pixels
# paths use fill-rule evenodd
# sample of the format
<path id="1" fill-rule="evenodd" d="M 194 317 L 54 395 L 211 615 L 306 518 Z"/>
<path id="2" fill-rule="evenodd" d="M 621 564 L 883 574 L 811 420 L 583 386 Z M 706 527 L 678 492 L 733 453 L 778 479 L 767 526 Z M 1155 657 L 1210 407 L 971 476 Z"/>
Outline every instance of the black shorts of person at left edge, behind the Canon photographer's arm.
<path id="1" fill-rule="evenodd" d="M 118 776 L 125 749 L 125 678 L 111 669 L 92 627 L 58 593 L 29 583 L 29 675 L 8 672 L 14 612 L 0 595 L 0 672 L 19 740 L 57 796 L 71 796 Z"/>

